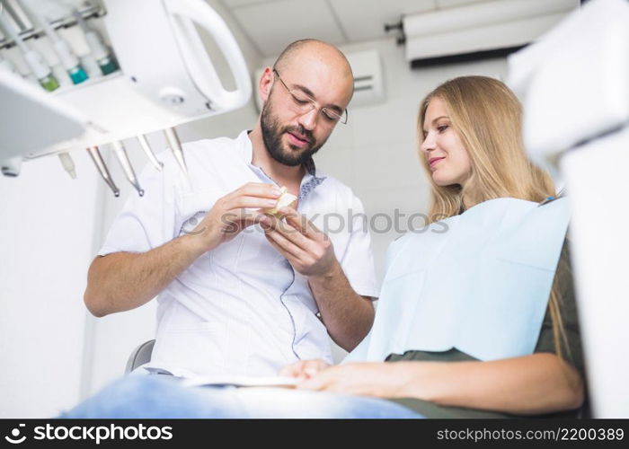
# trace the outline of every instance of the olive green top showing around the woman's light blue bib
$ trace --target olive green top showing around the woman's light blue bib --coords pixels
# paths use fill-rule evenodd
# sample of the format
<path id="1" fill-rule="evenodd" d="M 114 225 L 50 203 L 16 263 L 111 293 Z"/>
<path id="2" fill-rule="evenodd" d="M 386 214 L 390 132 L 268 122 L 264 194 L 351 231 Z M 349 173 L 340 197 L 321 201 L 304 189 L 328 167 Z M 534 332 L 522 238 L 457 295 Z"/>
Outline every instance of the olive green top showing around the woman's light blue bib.
<path id="1" fill-rule="evenodd" d="M 555 272 L 554 285 L 557 287 L 560 294 L 559 308 L 568 342 L 568 348 L 564 348 L 565 345 L 563 345 L 563 357 L 568 363 L 573 365 L 577 371 L 579 371 L 581 378 L 585 381 L 585 368 L 580 343 L 577 308 L 574 300 L 574 286 L 572 284 L 568 239 L 563 242 L 562 253 Z M 537 339 L 535 352 L 550 352 L 556 354 L 554 348 L 553 321 L 551 320 L 551 314 L 548 309 L 546 309 L 542 329 L 540 330 L 539 339 Z M 452 348 L 445 352 L 406 351 L 403 355 L 392 354 L 386 358 L 386 362 L 398 362 L 400 360 L 458 362 L 477 359 L 468 356 L 456 348 Z M 500 412 L 439 406 L 433 402 L 421 401 L 413 398 L 392 399 L 391 401 L 403 404 L 404 406 L 417 411 L 426 418 L 515 418 L 515 415 Z M 549 415 L 538 415 L 531 418 L 574 418 L 577 416 L 578 412 L 579 410 L 569 410 Z"/>

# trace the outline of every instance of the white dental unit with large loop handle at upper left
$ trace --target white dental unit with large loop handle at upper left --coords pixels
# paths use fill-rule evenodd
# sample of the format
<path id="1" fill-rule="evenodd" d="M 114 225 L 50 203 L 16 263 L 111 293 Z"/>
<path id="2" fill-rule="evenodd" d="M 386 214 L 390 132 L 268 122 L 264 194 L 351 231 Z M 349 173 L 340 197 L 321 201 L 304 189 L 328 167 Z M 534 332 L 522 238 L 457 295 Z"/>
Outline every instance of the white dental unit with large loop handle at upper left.
<path id="1" fill-rule="evenodd" d="M 36 149 L 22 145 L 25 160 L 163 131 L 238 109 L 249 100 L 252 86 L 241 50 L 225 22 L 203 0 L 104 0 L 103 4 L 102 20 L 120 71 L 48 94 L 59 106 L 83 114 L 83 132 L 66 140 L 50 138 L 49 145 Z M 143 18 L 141 28 L 137 17 Z M 227 91 L 221 84 L 195 24 L 223 53 L 235 90 Z M 20 103 L 8 107 L 17 110 Z M 38 133 L 38 117 L 31 123 L 31 130 L 14 131 L 20 139 Z M 178 139 L 170 131 L 166 134 L 185 167 Z M 4 141 L 17 137 L 0 136 L 0 160 L 12 155 L 3 153 Z"/>

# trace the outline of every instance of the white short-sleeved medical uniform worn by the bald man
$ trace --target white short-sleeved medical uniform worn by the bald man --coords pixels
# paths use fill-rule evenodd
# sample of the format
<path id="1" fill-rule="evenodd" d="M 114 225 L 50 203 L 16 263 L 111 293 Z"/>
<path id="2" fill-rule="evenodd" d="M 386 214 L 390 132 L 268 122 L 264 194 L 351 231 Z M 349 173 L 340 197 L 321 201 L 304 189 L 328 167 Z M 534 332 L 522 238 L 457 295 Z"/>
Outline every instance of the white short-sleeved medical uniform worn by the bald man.
<path id="1" fill-rule="evenodd" d="M 129 195 L 100 255 L 152 250 L 193 230 L 217 198 L 247 182 L 273 182 L 252 165 L 246 131 L 235 139 L 199 140 L 183 147 L 190 181 L 164 152 L 164 170 L 147 166 L 142 172 L 145 196 Z M 356 293 L 377 297 L 359 198 L 339 180 L 316 172 L 314 163 L 306 165 L 299 213 L 319 229 L 328 229 Z M 332 362 L 330 339 L 317 317 L 307 278 L 267 242 L 258 226 L 200 256 L 157 301 L 157 336 L 148 366 L 176 375 L 271 375 L 297 359 Z"/>

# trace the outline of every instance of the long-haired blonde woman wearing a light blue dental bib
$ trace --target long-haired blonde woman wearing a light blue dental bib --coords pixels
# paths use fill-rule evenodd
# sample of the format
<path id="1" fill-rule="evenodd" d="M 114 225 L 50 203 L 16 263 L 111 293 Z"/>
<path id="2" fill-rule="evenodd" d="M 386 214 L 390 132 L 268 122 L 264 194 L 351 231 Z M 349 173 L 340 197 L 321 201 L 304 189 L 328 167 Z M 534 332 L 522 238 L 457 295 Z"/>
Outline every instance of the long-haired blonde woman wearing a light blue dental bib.
<path id="1" fill-rule="evenodd" d="M 456 78 L 421 102 L 418 128 L 430 216 L 455 235 L 394 242 L 368 339 L 342 365 L 301 362 L 284 374 L 427 417 L 573 416 L 585 393 L 565 200 L 552 201 L 553 181 L 527 160 L 517 98 L 492 78 Z M 465 224 L 477 228 L 462 233 Z"/>

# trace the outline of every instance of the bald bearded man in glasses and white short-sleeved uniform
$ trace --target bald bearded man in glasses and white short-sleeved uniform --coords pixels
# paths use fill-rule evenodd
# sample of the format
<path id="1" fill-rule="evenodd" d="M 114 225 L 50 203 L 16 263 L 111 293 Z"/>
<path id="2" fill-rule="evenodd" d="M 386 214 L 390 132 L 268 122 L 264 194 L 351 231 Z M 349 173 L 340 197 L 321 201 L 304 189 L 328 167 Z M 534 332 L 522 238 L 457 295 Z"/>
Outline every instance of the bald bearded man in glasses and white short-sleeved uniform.
<path id="1" fill-rule="evenodd" d="M 378 294 L 363 207 L 313 155 L 347 122 L 350 64 L 299 40 L 261 75 L 250 131 L 184 145 L 188 182 L 170 153 L 141 175 L 93 260 L 84 294 L 95 316 L 155 295 L 158 326 L 143 372 L 277 374 L 299 359 L 350 351 Z M 280 188 L 297 200 L 277 215 Z M 333 218 L 333 229 L 325 233 Z"/>

